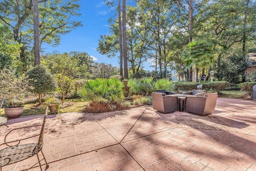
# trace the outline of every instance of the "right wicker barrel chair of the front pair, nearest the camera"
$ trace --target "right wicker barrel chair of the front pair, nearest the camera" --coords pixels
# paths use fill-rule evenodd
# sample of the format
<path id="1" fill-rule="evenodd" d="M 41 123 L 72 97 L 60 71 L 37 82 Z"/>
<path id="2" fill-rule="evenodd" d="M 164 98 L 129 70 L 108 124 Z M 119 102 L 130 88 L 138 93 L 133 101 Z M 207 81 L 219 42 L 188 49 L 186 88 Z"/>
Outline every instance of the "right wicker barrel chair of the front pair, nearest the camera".
<path id="1" fill-rule="evenodd" d="M 214 112 L 217 93 L 205 94 L 205 96 L 188 96 L 185 99 L 184 111 L 201 116 L 209 115 Z"/>

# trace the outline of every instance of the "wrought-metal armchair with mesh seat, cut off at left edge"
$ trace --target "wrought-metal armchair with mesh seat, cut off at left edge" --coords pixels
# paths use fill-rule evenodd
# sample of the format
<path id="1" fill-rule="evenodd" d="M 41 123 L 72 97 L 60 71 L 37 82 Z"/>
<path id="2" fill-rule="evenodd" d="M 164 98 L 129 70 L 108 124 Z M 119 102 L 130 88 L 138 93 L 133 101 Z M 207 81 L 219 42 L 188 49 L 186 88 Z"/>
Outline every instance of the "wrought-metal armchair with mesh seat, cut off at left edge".
<path id="1" fill-rule="evenodd" d="M 34 126 L 15 128 L 15 129 L 11 130 L 10 132 L 8 132 L 8 134 L 6 134 L 6 136 L 4 138 L 4 143 L 0 144 L 0 146 L 2 146 L 2 145 L 7 146 L 4 149 L 0 149 L 0 171 L 2 171 L 2 167 L 6 166 L 6 165 L 10 165 L 12 163 L 16 163 L 18 161 L 28 159 L 28 158 L 30 158 L 34 155 L 37 156 L 38 163 L 40 165 L 41 171 L 42 171 L 42 166 L 41 166 L 40 161 L 42 161 L 43 159 L 46 163 L 46 169 L 49 167 L 49 165 L 47 164 L 46 159 L 44 157 L 44 154 L 42 152 L 43 143 L 44 143 L 43 142 L 44 124 L 45 124 L 47 112 L 48 112 L 48 107 L 46 108 L 42 125 L 35 125 L 35 126 L 42 126 L 40 134 L 30 136 L 28 138 L 22 138 L 21 140 L 10 141 L 10 142 L 6 142 L 6 138 L 7 138 L 7 136 L 11 135 L 10 133 L 12 133 L 12 131 L 19 130 L 19 129 L 24 129 L 24 128 L 31 128 L 31 127 L 34 127 Z M 25 134 L 27 134 L 27 132 Z M 30 138 L 33 138 L 33 137 L 36 137 L 36 136 L 39 136 L 38 143 L 20 144 L 22 142 L 22 140 L 27 140 L 27 139 L 30 139 Z M 12 145 L 14 143 L 15 143 L 15 145 Z M 42 152 L 42 155 L 43 155 L 43 159 L 41 159 L 41 160 L 39 159 L 39 156 L 38 156 L 38 153 L 40 151 Z M 36 164 L 34 164 L 32 167 L 34 167 Z M 30 167 L 28 169 L 31 169 L 32 167 Z"/>

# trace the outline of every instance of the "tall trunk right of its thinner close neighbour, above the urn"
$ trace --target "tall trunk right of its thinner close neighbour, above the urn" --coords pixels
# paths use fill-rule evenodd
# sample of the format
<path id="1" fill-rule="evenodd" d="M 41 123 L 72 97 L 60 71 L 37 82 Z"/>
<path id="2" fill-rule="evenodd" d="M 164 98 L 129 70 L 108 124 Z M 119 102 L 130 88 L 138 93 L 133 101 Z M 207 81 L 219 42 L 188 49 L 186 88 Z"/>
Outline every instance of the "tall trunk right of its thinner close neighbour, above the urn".
<path id="1" fill-rule="evenodd" d="M 126 45 L 126 0 L 122 4 L 122 31 L 123 31 L 123 57 L 124 57 L 124 79 L 128 79 L 127 45 Z"/>

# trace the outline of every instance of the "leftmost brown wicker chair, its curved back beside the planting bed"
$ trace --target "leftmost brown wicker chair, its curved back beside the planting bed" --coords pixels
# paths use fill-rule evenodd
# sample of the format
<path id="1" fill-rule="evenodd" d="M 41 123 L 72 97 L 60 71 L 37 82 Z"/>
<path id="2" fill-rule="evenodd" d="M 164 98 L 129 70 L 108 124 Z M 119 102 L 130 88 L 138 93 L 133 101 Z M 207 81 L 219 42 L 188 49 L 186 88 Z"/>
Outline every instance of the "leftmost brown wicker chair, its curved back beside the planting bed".
<path id="1" fill-rule="evenodd" d="M 178 97 L 165 96 L 161 92 L 152 92 L 152 103 L 154 110 L 162 113 L 178 111 Z"/>

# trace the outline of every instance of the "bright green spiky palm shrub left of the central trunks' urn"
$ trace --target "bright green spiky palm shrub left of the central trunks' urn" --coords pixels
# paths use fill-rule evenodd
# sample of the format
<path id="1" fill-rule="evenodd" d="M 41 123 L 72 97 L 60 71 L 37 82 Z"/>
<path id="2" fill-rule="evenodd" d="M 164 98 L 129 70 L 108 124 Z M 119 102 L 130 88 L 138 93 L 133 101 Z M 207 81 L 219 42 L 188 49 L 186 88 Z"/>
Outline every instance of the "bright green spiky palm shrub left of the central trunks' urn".
<path id="1" fill-rule="evenodd" d="M 78 94 L 91 104 L 118 104 L 124 99 L 123 83 L 116 78 L 85 81 Z"/>

